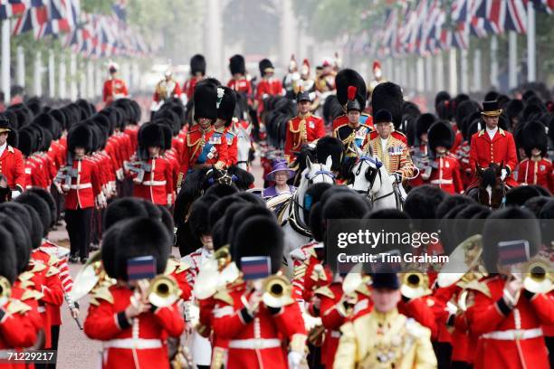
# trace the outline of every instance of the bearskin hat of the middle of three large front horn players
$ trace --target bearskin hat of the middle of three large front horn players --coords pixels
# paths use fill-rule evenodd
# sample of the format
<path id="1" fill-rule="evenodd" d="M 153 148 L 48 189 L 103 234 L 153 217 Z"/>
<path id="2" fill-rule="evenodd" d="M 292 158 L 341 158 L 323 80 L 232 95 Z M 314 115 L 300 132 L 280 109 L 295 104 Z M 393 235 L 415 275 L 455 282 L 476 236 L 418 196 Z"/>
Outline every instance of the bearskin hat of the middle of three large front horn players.
<path id="1" fill-rule="evenodd" d="M 253 216 L 234 232 L 231 249 L 233 260 L 241 269 L 241 259 L 247 256 L 268 256 L 272 262 L 272 273 L 281 269 L 284 235 L 274 219 Z"/>

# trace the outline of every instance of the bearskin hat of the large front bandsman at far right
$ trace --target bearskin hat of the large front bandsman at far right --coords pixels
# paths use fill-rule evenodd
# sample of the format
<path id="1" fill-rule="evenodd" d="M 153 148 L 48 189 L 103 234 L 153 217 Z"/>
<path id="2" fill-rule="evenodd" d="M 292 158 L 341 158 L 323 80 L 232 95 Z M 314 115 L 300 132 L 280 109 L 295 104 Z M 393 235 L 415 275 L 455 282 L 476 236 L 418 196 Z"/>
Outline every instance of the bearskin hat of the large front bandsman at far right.
<path id="1" fill-rule="evenodd" d="M 517 220 L 518 226 L 506 226 L 505 220 L 508 219 Z M 535 215 L 527 209 L 514 206 L 492 212 L 484 222 L 482 229 L 482 252 L 486 270 L 489 273 L 497 270 L 496 264 L 500 260 L 499 242 L 520 240 L 529 242 L 529 255 L 531 258 L 537 254 L 542 242 L 540 223 L 535 218 Z"/>

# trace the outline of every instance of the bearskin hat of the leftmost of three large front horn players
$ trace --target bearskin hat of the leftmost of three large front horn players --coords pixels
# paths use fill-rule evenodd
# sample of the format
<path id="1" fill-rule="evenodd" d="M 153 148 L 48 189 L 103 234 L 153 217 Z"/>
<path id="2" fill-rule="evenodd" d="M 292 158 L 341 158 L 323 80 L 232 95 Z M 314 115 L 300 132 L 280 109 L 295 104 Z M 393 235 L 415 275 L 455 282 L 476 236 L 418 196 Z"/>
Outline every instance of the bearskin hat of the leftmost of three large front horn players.
<path id="1" fill-rule="evenodd" d="M 117 230 L 119 224 L 110 231 Z M 156 260 L 157 274 L 166 270 L 167 259 L 171 249 L 171 238 L 159 220 L 149 218 L 134 218 L 121 222 L 119 237 L 115 250 L 116 275 L 111 278 L 128 280 L 127 262 L 129 259 L 141 256 L 153 256 Z M 102 255 L 102 261 L 104 255 Z M 107 270 L 108 271 L 108 270 Z"/>

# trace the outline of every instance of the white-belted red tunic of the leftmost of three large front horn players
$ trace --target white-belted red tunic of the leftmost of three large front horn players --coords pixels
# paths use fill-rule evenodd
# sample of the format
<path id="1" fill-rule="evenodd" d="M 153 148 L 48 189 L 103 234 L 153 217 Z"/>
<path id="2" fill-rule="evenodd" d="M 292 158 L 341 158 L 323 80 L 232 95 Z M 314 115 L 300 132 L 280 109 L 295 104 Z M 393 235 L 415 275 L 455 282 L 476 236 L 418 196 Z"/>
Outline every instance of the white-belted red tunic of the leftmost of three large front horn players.
<path id="1" fill-rule="evenodd" d="M 89 314 L 84 321 L 84 333 L 103 341 L 102 368 L 169 368 L 167 347 L 162 336 L 178 337 L 185 322 L 177 307 L 158 307 L 155 312 L 125 318 L 133 291 L 111 286 L 109 292 L 93 295 Z M 135 363 L 136 355 L 137 363 Z"/>

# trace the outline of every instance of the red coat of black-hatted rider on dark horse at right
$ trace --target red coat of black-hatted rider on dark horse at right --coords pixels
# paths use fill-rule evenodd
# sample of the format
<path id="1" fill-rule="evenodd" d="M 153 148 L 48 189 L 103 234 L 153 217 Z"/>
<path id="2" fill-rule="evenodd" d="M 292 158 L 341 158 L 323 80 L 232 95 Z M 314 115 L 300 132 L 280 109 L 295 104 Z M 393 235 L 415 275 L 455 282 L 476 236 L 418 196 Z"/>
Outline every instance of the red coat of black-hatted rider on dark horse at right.
<path id="1" fill-rule="evenodd" d="M 512 172 L 518 164 L 515 142 L 511 133 L 502 128 L 498 128 L 492 139 L 484 129 L 473 134 L 469 162 L 473 173 L 473 182 L 470 187 L 477 185 L 479 181 L 477 166 L 487 168 L 492 163 L 508 166 L 511 173 L 506 177 L 506 184 L 511 187 L 518 185 L 512 177 Z"/>

